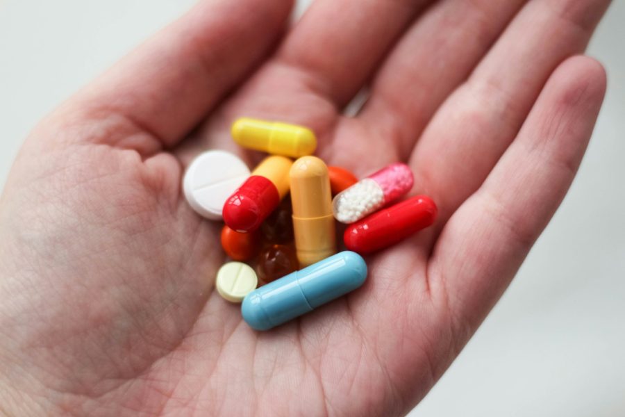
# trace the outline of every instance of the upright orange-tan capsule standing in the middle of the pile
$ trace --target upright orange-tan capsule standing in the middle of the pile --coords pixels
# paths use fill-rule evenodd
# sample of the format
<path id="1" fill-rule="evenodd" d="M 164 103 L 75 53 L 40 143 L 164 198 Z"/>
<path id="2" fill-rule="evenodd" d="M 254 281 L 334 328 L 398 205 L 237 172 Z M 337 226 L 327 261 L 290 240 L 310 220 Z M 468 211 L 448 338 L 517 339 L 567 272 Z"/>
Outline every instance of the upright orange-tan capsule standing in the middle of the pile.
<path id="1" fill-rule="evenodd" d="M 328 167 L 315 156 L 303 156 L 290 177 L 297 260 L 308 266 L 336 253 Z"/>

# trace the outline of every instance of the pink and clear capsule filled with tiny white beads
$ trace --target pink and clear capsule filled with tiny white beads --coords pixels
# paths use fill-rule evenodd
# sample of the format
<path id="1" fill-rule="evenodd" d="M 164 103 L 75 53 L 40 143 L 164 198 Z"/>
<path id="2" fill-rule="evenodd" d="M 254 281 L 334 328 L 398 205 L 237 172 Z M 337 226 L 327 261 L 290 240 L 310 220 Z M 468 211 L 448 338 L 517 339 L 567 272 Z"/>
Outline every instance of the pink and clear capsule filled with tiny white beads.
<path id="1" fill-rule="evenodd" d="M 392 163 L 338 193 L 332 201 L 336 220 L 353 223 L 406 195 L 414 178 L 405 163 Z"/>

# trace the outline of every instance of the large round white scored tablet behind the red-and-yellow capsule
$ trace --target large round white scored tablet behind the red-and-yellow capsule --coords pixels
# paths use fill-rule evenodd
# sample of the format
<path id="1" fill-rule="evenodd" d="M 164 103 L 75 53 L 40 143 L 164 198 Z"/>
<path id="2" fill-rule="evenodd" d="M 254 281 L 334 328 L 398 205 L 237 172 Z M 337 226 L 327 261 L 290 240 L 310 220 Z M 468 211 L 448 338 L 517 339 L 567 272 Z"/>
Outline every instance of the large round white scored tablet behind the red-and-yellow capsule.
<path id="1" fill-rule="evenodd" d="M 222 220 L 222 208 L 249 177 L 249 168 L 235 154 L 208 151 L 189 165 L 183 180 L 185 198 L 199 215 L 210 220 Z"/>

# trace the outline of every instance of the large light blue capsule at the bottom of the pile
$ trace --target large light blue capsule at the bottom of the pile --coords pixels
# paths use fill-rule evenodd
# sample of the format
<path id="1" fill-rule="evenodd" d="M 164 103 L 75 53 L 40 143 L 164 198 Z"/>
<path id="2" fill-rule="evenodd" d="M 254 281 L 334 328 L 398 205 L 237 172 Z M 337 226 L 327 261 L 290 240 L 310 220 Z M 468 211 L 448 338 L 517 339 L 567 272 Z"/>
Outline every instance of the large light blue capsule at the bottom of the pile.
<path id="1" fill-rule="evenodd" d="M 340 252 L 249 293 L 243 320 L 256 330 L 271 329 L 355 290 L 366 278 L 364 259 Z"/>

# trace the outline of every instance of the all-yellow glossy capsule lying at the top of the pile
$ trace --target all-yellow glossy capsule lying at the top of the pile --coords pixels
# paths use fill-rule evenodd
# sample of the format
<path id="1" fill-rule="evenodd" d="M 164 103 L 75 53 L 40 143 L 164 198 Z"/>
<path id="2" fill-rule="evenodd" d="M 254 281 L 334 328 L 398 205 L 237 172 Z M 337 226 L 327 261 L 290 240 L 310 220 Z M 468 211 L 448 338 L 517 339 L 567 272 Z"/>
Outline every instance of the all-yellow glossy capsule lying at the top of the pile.
<path id="1" fill-rule="evenodd" d="M 231 133 L 235 142 L 242 147 L 267 154 L 299 158 L 313 154 L 317 147 L 315 133 L 295 124 L 242 117 L 233 123 Z"/>

